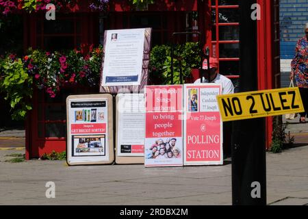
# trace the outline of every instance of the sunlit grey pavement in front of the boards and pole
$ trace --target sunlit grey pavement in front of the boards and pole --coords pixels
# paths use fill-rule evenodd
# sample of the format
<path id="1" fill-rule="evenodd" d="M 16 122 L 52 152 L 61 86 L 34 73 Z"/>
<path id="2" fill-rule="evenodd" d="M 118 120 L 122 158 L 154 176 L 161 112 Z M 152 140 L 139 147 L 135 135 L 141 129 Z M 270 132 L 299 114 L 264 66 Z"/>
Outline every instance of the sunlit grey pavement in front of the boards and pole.
<path id="1" fill-rule="evenodd" d="M 290 122 L 294 124 L 288 131 L 296 137 L 296 147 L 279 154 L 266 153 L 268 205 L 308 205 L 308 123 Z M 1 150 L 8 146 L 3 144 L 14 142 L 13 138 L 16 144 L 12 145 L 22 142 L 24 135 L 15 133 L 5 136 L 0 132 L 0 205 L 232 204 L 228 161 L 223 166 L 181 168 L 67 166 L 64 161 L 38 159 L 5 162 L 12 153 L 25 153 L 18 147 Z M 55 183 L 55 198 L 45 196 L 49 181 Z"/>

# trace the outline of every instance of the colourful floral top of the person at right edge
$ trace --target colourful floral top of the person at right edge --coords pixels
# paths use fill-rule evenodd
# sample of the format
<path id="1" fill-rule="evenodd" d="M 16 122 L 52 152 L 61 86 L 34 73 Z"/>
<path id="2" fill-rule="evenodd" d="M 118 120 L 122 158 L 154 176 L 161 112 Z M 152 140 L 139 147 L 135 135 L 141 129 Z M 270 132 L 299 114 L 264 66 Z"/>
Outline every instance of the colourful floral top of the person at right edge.
<path id="1" fill-rule="evenodd" d="M 291 68 L 294 72 L 296 86 L 308 88 L 308 41 L 306 37 L 300 38 L 296 44 Z"/>

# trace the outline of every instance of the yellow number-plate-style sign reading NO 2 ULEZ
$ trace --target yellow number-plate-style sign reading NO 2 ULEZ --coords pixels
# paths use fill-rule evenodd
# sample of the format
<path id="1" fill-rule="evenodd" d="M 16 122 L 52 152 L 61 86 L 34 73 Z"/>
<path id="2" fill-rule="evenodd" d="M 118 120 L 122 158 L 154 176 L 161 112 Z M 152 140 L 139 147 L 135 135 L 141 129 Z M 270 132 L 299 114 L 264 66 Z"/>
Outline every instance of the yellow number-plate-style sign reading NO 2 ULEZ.
<path id="1" fill-rule="evenodd" d="M 217 99 L 224 122 L 304 112 L 297 87 L 220 95 Z"/>

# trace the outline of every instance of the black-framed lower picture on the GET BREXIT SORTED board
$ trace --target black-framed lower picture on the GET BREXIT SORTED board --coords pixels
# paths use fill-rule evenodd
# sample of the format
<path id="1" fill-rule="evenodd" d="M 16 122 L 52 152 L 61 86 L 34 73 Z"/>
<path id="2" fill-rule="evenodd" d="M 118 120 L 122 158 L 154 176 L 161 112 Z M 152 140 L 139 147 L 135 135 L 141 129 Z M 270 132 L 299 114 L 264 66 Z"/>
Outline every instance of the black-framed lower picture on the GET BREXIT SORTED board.
<path id="1" fill-rule="evenodd" d="M 72 136 L 73 157 L 105 155 L 105 135 Z"/>

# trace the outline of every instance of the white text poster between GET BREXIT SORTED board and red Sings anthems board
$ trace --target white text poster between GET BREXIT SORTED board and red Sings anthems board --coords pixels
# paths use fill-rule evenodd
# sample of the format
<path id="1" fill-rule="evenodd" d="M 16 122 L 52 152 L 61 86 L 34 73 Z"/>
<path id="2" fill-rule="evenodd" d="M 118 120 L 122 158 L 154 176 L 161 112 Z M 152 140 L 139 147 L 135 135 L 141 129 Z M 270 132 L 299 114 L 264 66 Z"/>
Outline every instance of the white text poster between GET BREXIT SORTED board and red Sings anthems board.
<path id="1" fill-rule="evenodd" d="M 118 94 L 117 155 L 144 156 L 144 94 Z"/>

